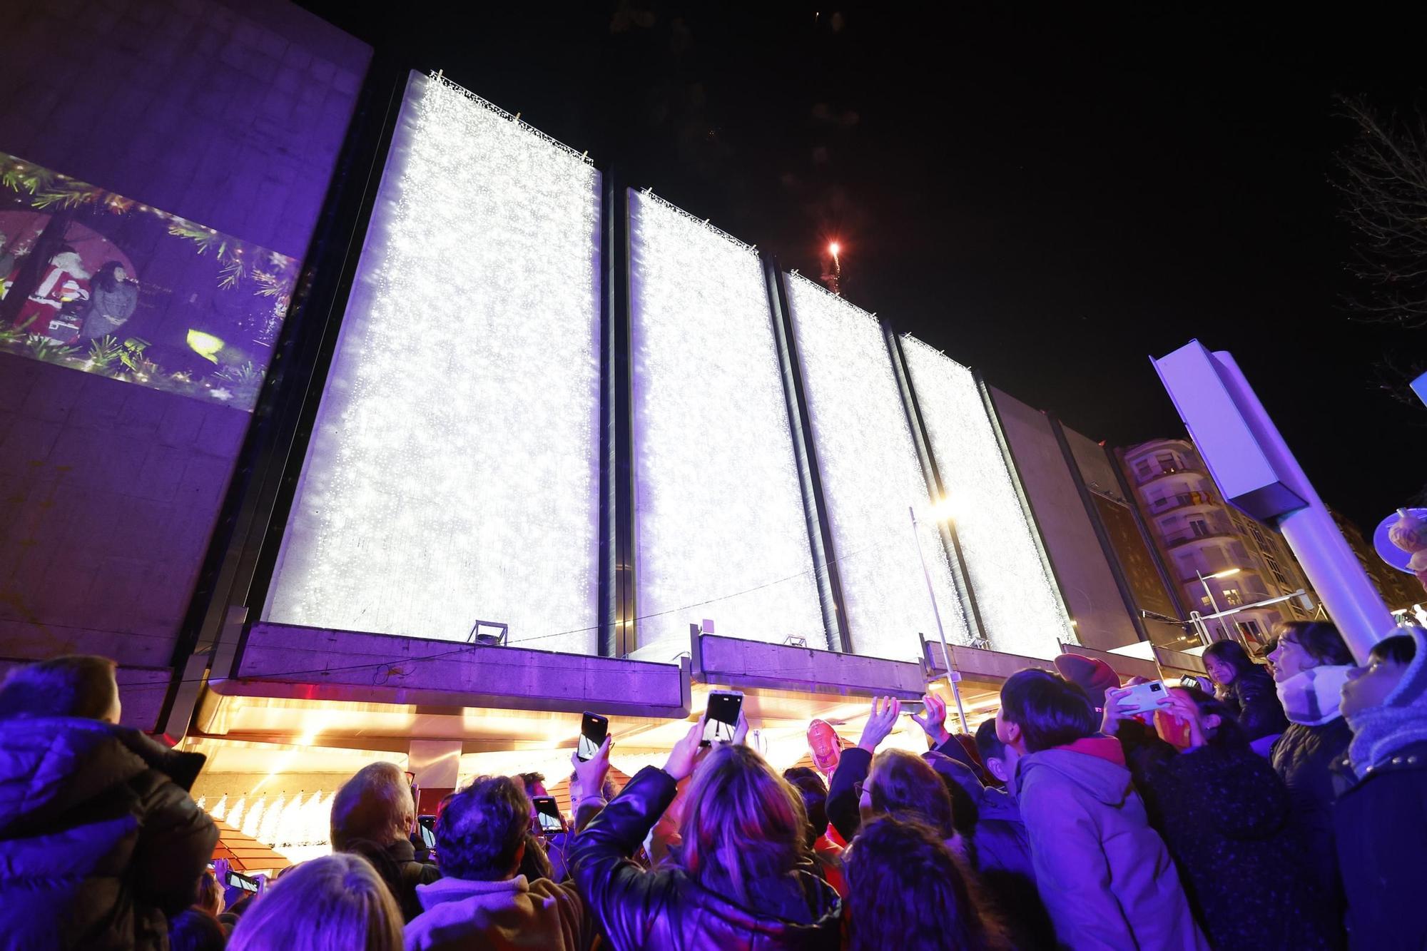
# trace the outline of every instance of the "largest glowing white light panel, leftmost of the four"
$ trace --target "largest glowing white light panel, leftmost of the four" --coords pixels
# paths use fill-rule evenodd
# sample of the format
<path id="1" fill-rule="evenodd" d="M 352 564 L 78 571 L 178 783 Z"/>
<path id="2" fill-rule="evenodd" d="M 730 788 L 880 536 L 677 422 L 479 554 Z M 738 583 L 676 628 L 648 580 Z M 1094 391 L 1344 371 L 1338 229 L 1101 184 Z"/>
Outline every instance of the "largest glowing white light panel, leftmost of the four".
<path id="1" fill-rule="evenodd" d="M 412 76 L 267 618 L 596 643 L 599 176 Z"/>

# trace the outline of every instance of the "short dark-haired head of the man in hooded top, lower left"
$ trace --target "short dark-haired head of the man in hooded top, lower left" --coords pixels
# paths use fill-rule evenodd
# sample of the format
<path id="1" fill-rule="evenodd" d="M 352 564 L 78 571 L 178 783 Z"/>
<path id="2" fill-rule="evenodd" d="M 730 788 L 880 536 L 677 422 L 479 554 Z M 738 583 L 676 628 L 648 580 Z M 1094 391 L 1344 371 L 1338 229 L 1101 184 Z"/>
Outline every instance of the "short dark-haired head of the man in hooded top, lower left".
<path id="1" fill-rule="evenodd" d="M 529 831 L 529 798 L 508 775 L 482 775 L 451 797 L 437 822 L 441 872 L 465 881 L 515 875 Z"/>

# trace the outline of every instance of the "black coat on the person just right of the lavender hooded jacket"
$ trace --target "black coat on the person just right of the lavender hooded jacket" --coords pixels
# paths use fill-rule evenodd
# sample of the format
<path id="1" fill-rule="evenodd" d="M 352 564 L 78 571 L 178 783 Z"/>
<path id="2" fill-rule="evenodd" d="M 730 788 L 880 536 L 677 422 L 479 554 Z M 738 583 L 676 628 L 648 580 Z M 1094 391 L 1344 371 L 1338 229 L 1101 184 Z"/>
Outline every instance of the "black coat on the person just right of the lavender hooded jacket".
<path id="1" fill-rule="evenodd" d="M 1160 834 L 1216 951 L 1333 947 L 1289 791 L 1247 743 L 1172 753 L 1134 781 L 1163 810 Z"/>

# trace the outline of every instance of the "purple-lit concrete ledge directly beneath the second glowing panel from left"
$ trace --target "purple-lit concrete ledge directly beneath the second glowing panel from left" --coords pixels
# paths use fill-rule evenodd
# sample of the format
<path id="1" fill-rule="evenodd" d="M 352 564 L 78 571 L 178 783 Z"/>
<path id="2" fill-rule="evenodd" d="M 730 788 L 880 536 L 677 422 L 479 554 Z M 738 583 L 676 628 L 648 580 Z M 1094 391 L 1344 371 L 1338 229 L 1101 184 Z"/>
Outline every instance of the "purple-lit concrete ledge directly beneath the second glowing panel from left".
<path id="1" fill-rule="evenodd" d="M 692 634 L 694 675 L 731 687 L 766 687 L 852 697 L 916 700 L 926 693 L 922 667 L 811 647 Z"/>

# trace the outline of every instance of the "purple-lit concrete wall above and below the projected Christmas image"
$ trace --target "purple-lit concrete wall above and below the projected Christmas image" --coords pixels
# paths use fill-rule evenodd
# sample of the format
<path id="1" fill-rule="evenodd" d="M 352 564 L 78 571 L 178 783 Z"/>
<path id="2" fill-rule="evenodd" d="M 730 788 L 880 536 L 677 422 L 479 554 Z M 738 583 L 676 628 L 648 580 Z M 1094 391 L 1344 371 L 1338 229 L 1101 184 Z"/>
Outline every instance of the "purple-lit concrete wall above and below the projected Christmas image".
<path id="1" fill-rule="evenodd" d="M 301 258 L 371 51 L 288 3 L 10 0 L 0 151 Z M 0 665 L 151 727 L 250 414 L 0 354 Z"/>

